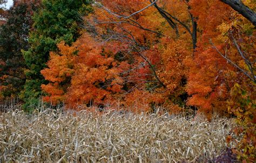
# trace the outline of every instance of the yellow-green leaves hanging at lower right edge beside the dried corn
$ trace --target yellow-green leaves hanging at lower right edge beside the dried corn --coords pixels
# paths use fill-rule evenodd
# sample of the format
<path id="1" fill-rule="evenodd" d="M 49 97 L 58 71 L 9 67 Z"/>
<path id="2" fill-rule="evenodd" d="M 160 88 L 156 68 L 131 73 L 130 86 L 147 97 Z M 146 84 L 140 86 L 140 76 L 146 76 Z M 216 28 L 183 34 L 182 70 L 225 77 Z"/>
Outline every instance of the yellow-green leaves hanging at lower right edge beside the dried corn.
<path id="1" fill-rule="evenodd" d="M 237 117 L 238 127 L 234 129 L 234 133 L 242 134 L 243 138 L 237 145 L 238 157 L 244 159 L 244 161 L 255 160 L 255 98 L 250 95 L 250 91 L 247 85 L 244 87 L 240 83 L 235 83 L 231 89 L 231 99 L 229 102 L 230 111 Z"/>

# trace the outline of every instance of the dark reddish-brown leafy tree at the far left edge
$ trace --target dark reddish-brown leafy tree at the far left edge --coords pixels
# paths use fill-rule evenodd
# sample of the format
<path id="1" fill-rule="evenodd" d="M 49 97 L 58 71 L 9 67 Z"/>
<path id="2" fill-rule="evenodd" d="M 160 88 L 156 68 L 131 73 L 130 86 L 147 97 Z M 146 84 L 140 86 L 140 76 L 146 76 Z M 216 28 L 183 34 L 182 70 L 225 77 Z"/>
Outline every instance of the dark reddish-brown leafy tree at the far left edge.
<path id="1" fill-rule="evenodd" d="M 0 27 L 1 96 L 17 96 L 25 83 L 26 68 L 22 50 L 29 49 L 29 30 L 37 3 L 18 3 L 6 11 L 6 22 Z"/>

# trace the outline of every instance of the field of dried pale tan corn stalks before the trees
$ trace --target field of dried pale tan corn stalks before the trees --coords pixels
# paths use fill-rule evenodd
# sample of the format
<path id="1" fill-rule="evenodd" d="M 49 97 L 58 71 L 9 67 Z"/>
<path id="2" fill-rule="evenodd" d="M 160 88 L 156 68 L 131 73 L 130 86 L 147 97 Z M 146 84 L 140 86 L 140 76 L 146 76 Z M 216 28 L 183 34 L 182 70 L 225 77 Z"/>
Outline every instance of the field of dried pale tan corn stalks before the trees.
<path id="1" fill-rule="evenodd" d="M 232 123 L 107 112 L 0 116 L 0 162 L 205 162 L 226 148 Z"/>

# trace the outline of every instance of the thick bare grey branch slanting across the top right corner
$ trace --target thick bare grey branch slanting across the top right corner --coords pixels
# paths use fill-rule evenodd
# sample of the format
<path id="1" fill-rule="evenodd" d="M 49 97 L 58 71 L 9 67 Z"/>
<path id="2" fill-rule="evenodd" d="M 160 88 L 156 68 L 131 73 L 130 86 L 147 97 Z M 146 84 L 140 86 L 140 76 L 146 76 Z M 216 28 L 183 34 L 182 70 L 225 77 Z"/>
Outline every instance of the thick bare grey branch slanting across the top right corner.
<path id="1" fill-rule="evenodd" d="M 240 0 L 220 0 L 231 6 L 232 9 L 239 12 L 242 16 L 248 19 L 254 26 L 256 26 L 256 13 L 244 5 Z"/>

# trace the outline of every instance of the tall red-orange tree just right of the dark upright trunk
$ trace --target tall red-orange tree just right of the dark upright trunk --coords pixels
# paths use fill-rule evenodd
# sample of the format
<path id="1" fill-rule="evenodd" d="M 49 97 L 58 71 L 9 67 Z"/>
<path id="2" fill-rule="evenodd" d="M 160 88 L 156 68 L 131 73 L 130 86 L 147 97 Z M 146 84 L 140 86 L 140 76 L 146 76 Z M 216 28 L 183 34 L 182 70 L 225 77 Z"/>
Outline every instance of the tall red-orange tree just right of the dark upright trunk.
<path id="1" fill-rule="evenodd" d="M 191 1 L 192 13 L 198 18 L 200 39 L 194 58 L 188 60 L 187 92 L 192 97 L 188 105 L 199 107 L 199 111 L 210 118 L 213 111 L 226 113 L 227 79 L 226 71 L 232 70 L 226 60 L 212 47 L 225 45 L 225 40 L 216 37 L 221 34 L 218 27 L 221 23 L 230 22 L 232 10 L 220 1 Z"/>

